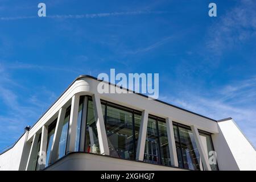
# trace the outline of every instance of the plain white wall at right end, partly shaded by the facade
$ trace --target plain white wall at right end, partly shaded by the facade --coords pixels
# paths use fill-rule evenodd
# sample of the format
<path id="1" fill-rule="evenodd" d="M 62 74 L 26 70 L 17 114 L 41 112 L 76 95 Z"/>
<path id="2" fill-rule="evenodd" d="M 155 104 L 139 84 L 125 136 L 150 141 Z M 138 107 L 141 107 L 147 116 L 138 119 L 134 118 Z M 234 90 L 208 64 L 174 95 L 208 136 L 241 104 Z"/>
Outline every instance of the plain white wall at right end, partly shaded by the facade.
<path id="1" fill-rule="evenodd" d="M 233 119 L 218 122 L 213 144 L 221 170 L 256 170 L 256 151 Z"/>

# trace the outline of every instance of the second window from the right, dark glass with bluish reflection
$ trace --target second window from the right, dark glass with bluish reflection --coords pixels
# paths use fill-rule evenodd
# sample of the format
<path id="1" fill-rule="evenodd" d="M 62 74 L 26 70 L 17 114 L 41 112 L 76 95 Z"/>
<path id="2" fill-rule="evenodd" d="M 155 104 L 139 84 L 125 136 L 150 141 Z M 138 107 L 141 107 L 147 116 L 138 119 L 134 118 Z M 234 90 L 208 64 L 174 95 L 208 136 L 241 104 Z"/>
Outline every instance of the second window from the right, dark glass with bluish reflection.
<path id="1" fill-rule="evenodd" d="M 200 170 L 200 155 L 192 131 L 178 125 L 174 126 L 174 134 L 179 167 Z"/>

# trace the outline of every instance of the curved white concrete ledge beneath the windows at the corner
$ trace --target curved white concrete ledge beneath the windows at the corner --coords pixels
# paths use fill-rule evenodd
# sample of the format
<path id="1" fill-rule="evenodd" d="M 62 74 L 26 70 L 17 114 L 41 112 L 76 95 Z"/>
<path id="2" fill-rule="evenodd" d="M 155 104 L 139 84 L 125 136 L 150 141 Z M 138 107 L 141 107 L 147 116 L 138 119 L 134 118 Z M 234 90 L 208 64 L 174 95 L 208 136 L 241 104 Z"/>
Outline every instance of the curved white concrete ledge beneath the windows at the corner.
<path id="1" fill-rule="evenodd" d="M 44 169 L 46 171 L 187 171 L 176 167 L 166 167 L 111 156 L 72 152 Z"/>

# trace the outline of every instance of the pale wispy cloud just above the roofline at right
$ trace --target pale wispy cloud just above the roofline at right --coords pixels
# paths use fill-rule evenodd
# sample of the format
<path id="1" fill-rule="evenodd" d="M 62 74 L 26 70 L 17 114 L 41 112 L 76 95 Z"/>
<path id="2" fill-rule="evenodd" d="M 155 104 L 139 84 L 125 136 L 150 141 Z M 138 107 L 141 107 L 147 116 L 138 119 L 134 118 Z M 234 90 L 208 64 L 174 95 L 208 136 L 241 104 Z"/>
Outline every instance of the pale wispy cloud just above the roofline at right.
<path id="1" fill-rule="evenodd" d="M 253 77 L 224 85 L 216 90 L 205 90 L 205 93 L 209 93 L 207 96 L 193 90 L 183 90 L 176 97 L 164 96 L 160 99 L 216 120 L 232 117 L 250 138 L 250 142 L 256 146 L 256 105 L 255 97 L 251 97 L 255 94 L 255 83 Z"/>

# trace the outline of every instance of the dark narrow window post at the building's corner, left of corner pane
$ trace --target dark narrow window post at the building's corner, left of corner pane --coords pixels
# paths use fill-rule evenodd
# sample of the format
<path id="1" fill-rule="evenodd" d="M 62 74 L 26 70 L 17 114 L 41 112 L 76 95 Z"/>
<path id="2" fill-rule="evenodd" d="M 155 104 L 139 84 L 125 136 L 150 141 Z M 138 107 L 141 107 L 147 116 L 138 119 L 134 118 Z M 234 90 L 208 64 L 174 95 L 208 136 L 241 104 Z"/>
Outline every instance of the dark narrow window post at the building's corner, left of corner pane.
<path id="1" fill-rule="evenodd" d="M 84 152 L 85 132 L 86 132 L 86 119 L 87 119 L 87 104 L 88 97 L 84 97 L 84 105 L 82 107 L 82 124 L 81 124 L 81 139 L 80 139 L 80 152 Z"/>

